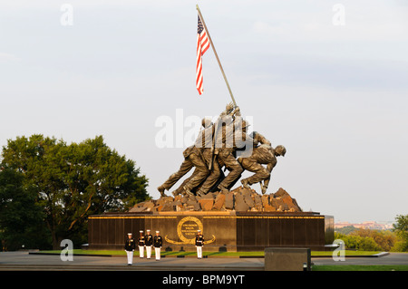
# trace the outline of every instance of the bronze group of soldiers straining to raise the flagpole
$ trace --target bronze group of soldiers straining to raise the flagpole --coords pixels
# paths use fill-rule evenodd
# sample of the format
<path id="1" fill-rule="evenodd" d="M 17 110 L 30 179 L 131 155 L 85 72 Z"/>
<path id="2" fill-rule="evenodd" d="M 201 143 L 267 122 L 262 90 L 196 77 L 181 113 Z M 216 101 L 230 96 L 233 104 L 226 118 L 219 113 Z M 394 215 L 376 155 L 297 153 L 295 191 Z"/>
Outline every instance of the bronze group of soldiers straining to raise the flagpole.
<path id="1" fill-rule="evenodd" d="M 272 169 L 278 156 L 285 156 L 284 146 L 272 148 L 271 143 L 257 131 L 247 134 L 249 124 L 241 116 L 239 107 L 229 103 L 218 120 L 212 123 L 202 120 L 202 130 L 195 143 L 183 151 L 184 160 L 180 169 L 173 173 L 159 188 L 160 196 L 170 190 L 189 170 L 195 168 L 173 196 L 203 196 L 210 191 L 227 193 L 241 178 L 244 170 L 253 172 L 249 178 L 241 179 L 244 188 L 260 184 L 262 194 L 267 192 Z M 225 176 L 224 171 L 228 170 Z"/>

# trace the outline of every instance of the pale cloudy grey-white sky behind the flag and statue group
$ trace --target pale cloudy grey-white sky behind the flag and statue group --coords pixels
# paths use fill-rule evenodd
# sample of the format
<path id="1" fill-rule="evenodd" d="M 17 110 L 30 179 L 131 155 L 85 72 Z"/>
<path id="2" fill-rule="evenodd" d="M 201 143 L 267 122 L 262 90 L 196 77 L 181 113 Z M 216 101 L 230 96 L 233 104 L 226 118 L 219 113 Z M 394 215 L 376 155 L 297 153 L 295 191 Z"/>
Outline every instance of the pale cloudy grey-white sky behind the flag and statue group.
<path id="1" fill-rule="evenodd" d="M 194 120 L 231 101 L 212 50 L 196 90 L 196 4 L 250 130 L 287 148 L 268 193 L 335 222 L 408 214 L 403 0 L 2 1 L 0 146 L 102 135 L 160 197 Z"/>

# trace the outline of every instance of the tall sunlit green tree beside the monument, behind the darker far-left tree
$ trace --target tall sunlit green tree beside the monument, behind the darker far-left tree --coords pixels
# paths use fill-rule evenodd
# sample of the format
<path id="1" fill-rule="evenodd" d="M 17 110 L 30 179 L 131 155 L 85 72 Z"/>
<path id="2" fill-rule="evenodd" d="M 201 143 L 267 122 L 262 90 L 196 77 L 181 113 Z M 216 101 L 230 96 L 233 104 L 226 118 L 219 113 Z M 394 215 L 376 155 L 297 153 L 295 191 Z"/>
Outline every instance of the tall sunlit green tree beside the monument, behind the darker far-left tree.
<path id="1" fill-rule="evenodd" d="M 149 197 L 148 179 L 102 136 L 70 145 L 43 135 L 17 137 L 7 141 L 2 163 L 34 188 L 54 249 L 63 238 L 85 242 L 90 215 L 123 211 Z"/>

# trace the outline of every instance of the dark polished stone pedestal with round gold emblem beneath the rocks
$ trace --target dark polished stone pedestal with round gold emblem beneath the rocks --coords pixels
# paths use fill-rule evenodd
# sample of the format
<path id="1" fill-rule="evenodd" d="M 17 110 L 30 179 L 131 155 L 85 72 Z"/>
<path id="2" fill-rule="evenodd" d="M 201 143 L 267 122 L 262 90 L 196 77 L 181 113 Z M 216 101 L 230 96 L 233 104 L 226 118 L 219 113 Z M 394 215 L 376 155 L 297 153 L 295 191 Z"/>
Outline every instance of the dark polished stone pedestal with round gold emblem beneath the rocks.
<path id="1" fill-rule="evenodd" d="M 334 218 L 315 212 L 184 211 L 109 213 L 88 219 L 89 249 L 122 249 L 124 237 L 160 231 L 162 250 L 193 251 L 197 230 L 204 251 L 264 251 L 267 247 L 324 250 L 334 241 Z"/>

